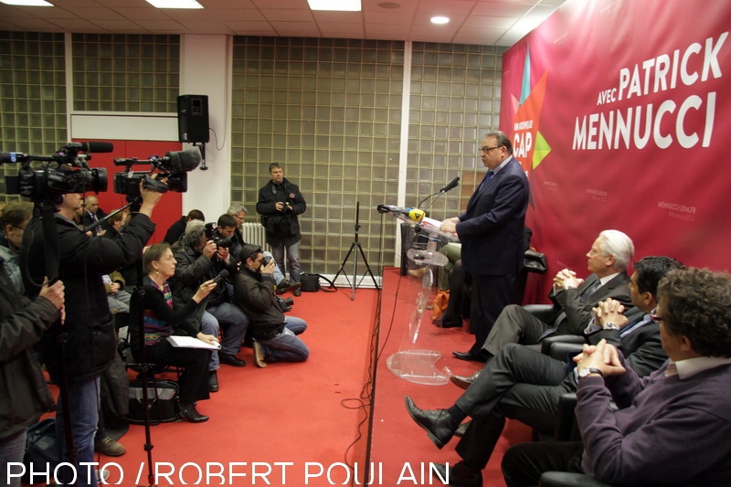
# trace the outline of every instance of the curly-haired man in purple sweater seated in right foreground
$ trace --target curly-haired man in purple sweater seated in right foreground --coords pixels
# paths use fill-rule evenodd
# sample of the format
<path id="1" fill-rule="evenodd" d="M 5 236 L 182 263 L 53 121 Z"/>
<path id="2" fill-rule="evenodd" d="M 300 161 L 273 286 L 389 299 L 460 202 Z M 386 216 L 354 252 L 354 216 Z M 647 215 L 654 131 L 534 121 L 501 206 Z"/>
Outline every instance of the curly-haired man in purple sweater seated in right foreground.
<path id="1" fill-rule="evenodd" d="M 544 471 L 585 472 L 622 485 L 729 484 L 731 275 L 673 270 L 658 295 L 656 320 L 670 360 L 640 378 L 611 344 L 585 345 L 574 358 L 583 444 L 514 446 L 503 457 L 509 486 L 537 485 Z"/>

